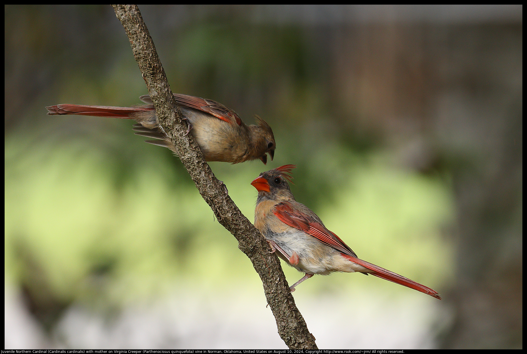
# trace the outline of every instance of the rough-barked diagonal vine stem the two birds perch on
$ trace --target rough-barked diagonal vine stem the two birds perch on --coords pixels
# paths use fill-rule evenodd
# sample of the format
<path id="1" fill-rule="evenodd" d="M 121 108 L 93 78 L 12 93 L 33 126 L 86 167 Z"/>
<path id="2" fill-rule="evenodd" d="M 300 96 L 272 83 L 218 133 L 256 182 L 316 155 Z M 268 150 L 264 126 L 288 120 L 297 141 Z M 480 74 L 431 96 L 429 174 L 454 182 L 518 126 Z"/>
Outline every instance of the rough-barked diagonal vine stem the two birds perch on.
<path id="1" fill-rule="evenodd" d="M 167 82 L 154 43 L 136 5 L 112 5 L 130 40 L 135 60 L 147 83 L 155 112 L 164 132 L 178 151 L 181 162 L 189 172 L 203 199 L 210 205 L 218 221 L 238 240 L 238 248 L 249 257 L 264 284 L 267 302 L 275 316 L 278 333 L 291 349 L 317 349 L 304 318 L 280 267 L 275 253 L 268 253 L 264 237 L 241 213 L 222 184 L 203 159 L 203 154 L 191 134 L 184 136 L 186 124 Z"/>

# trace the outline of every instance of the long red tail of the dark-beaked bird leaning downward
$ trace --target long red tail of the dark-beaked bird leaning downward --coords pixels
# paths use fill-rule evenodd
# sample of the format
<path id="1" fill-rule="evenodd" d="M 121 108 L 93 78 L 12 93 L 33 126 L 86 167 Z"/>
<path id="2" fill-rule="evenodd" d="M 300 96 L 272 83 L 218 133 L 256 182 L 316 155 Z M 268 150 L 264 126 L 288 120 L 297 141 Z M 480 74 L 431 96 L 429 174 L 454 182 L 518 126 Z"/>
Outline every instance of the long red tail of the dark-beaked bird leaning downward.
<path id="1" fill-rule="evenodd" d="M 131 118 L 131 114 L 152 111 L 151 107 L 112 107 L 112 106 L 86 106 L 79 104 L 57 104 L 46 107 L 48 115 L 79 114 L 93 115 L 96 117 Z"/>

